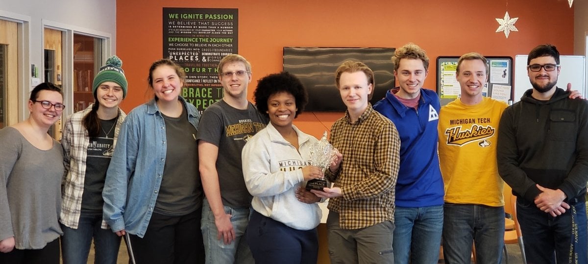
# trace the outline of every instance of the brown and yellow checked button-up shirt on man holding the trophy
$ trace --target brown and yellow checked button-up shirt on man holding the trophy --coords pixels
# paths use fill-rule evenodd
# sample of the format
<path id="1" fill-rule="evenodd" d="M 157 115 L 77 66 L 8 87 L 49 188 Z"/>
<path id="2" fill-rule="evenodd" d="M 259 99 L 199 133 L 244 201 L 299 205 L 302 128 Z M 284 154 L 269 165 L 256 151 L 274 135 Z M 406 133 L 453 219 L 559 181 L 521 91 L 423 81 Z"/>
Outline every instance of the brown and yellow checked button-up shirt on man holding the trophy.
<path id="1" fill-rule="evenodd" d="M 394 221 L 400 167 L 396 126 L 370 104 L 355 123 L 348 112 L 337 120 L 330 141 L 343 154 L 339 170 L 325 174 L 343 193 L 329 200 L 329 209 L 339 213 L 340 227 L 358 229 Z"/>

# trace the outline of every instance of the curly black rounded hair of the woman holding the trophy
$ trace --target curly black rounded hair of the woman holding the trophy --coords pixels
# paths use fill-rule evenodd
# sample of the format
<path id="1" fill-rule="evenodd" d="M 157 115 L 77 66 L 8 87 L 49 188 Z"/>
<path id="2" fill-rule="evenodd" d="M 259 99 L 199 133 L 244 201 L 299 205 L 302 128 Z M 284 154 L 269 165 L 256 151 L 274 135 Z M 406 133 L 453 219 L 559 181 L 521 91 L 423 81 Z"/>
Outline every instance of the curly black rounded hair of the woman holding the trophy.
<path id="1" fill-rule="evenodd" d="M 273 73 L 258 80 L 258 87 L 253 92 L 253 100 L 259 113 L 268 115 L 268 99 L 276 93 L 286 92 L 292 94 L 296 100 L 296 115 L 302 113 L 306 103 L 308 103 L 308 94 L 302 82 L 298 77 L 289 72 Z"/>

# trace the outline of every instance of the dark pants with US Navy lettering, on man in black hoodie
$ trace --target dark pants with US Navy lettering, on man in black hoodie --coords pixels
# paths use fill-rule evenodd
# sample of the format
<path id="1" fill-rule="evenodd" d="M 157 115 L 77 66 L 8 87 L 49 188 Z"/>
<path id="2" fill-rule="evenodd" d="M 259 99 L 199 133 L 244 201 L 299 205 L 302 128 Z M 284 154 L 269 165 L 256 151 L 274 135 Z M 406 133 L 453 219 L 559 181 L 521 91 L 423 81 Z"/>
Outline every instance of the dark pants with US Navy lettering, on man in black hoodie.
<path id="1" fill-rule="evenodd" d="M 517 198 L 517 218 L 527 263 L 588 263 L 586 204 L 573 198 L 570 209 L 553 217 L 534 202 Z"/>

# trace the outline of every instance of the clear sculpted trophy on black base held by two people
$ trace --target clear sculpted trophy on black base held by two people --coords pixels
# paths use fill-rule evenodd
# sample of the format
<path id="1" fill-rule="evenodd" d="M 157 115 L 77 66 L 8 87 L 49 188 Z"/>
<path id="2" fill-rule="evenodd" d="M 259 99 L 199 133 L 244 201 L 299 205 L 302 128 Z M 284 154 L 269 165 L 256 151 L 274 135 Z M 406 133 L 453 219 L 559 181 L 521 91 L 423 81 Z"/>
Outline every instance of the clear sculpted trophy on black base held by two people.
<path id="1" fill-rule="evenodd" d="M 323 137 L 315 144 L 310 145 L 310 164 L 319 167 L 322 171 L 325 171 L 329 167 L 329 164 L 333 162 L 336 157 L 336 150 L 333 145 L 327 141 L 327 131 L 323 133 Z M 323 188 L 327 187 L 327 181 L 325 178 L 313 179 L 306 183 L 306 189 L 316 189 L 322 191 Z"/>

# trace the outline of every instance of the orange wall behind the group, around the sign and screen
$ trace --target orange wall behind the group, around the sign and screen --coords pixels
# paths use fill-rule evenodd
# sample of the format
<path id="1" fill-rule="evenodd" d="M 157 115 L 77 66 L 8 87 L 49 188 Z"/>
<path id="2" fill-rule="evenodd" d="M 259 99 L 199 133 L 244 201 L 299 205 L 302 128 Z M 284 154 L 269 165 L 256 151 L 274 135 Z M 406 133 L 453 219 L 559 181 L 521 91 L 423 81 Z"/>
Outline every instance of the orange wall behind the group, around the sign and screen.
<path id="1" fill-rule="evenodd" d="M 399 47 L 415 42 L 431 65 L 425 87 L 435 89 L 437 56 L 480 52 L 486 56 L 527 54 L 542 43 L 573 54 L 573 9 L 565 0 L 124 0 L 116 1 L 116 50 L 129 82 L 122 108 L 145 102 L 146 77 L 162 55 L 162 8 L 238 8 L 239 53 L 253 67 L 253 81 L 282 70 L 284 46 Z M 495 33 L 509 11 L 519 32 Z M 304 113 L 295 124 L 315 137 L 341 113 Z"/>

